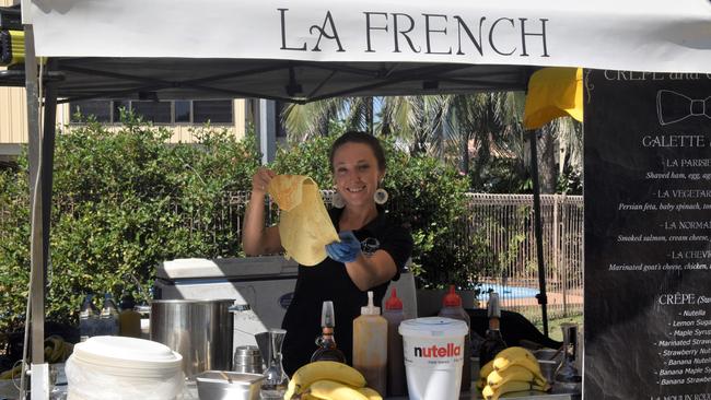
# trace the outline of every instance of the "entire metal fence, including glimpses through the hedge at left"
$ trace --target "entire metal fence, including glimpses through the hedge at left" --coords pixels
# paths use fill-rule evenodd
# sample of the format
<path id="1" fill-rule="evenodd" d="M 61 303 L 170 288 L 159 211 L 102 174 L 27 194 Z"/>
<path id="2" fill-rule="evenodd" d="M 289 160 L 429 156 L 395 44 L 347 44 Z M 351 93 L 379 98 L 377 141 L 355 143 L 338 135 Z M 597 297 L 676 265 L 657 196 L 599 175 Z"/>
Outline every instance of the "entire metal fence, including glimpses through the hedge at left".
<path id="1" fill-rule="evenodd" d="M 333 191 L 323 191 L 324 201 L 330 204 Z M 248 192 L 225 193 L 219 215 L 205 215 L 199 209 L 189 213 L 173 208 L 172 212 L 183 214 L 190 233 L 232 232 L 236 240 L 241 237 L 242 219 Z M 481 290 L 493 289 L 500 294 L 502 307 L 517 310 L 533 321 L 540 320 L 540 307 L 535 295 L 538 293 L 538 266 L 534 234 L 533 196 L 468 193 L 468 212 L 462 216 L 458 230 L 465 230 L 458 237 L 483 235 L 492 255 L 488 275 L 479 277 Z M 62 203 L 61 199 L 56 202 Z M 4 204 L 7 205 L 7 204 Z M 0 204 L 0 223 L 10 217 L 9 210 Z M 70 211 L 71 204 L 59 204 Z M 271 212 L 269 222 L 276 216 L 276 205 L 267 203 Z M 544 266 L 550 317 L 582 314 L 583 306 L 583 199 L 581 196 L 541 196 Z M 209 221 L 206 223 L 205 221 Z M 2 231 L 2 230 L 0 230 Z M 3 234 L 0 232 L 0 239 Z M 236 242 L 238 243 L 238 242 Z M 453 245 L 465 245 L 457 243 Z M 480 296 L 486 301 L 487 295 Z"/>

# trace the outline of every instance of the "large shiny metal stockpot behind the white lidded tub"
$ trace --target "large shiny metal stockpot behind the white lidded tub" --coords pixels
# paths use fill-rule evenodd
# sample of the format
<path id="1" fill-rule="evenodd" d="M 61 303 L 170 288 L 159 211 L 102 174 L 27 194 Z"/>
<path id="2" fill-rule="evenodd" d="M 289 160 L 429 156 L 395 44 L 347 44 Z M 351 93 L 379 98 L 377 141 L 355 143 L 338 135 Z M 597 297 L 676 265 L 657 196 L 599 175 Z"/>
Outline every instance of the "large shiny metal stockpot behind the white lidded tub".
<path id="1" fill-rule="evenodd" d="M 231 299 L 151 302 L 151 340 L 183 355 L 188 378 L 205 370 L 232 369 L 234 317 Z"/>

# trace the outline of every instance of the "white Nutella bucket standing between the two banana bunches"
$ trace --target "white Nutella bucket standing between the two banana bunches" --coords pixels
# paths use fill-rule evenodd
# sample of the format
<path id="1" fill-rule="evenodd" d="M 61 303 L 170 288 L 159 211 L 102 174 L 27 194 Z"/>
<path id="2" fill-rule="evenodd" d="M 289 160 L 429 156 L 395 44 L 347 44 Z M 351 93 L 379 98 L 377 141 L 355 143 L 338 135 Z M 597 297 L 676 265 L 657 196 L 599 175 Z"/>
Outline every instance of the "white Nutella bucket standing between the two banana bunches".
<path id="1" fill-rule="evenodd" d="M 459 398 L 466 322 L 442 317 L 408 319 L 403 336 L 407 389 L 413 400 Z"/>

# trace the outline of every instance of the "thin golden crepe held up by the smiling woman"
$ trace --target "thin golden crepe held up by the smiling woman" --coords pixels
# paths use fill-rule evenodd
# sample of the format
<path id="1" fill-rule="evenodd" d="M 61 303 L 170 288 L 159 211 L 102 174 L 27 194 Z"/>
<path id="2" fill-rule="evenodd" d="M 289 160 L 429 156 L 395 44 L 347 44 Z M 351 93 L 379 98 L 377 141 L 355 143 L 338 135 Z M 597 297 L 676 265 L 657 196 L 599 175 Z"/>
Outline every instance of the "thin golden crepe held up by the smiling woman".
<path id="1" fill-rule="evenodd" d="M 279 237 L 285 257 L 302 266 L 315 266 L 326 258 L 325 246 L 338 240 L 316 183 L 303 175 L 277 175 L 267 191 L 277 202 Z"/>

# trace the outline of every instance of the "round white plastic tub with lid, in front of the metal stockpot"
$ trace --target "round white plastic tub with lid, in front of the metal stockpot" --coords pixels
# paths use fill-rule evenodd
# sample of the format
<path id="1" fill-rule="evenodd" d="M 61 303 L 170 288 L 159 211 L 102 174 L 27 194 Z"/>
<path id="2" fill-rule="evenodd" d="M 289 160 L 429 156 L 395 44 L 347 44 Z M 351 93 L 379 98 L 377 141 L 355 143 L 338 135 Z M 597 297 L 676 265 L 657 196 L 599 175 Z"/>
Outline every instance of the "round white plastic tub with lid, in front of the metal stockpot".
<path id="1" fill-rule="evenodd" d="M 183 357 L 150 340 L 93 337 L 65 366 L 68 400 L 173 400 L 183 392 Z"/>

